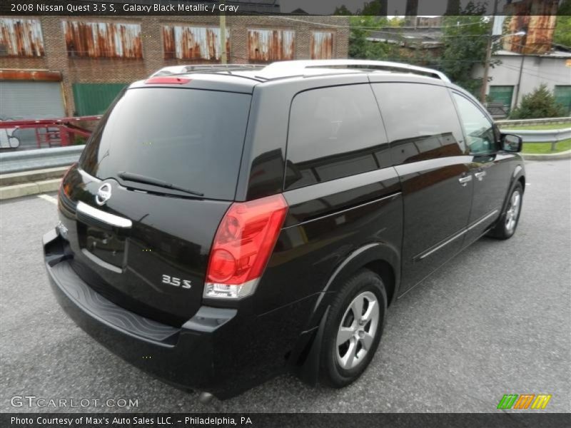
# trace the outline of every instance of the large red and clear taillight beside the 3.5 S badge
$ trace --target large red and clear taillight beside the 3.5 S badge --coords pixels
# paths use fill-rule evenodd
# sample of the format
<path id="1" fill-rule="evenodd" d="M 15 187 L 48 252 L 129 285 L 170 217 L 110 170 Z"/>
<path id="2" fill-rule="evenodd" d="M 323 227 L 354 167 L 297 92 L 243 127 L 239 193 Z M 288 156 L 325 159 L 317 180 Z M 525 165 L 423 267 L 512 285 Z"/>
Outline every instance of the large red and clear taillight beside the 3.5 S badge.
<path id="1" fill-rule="evenodd" d="M 216 231 L 204 297 L 240 299 L 254 292 L 287 211 L 282 195 L 231 205 Z"/>

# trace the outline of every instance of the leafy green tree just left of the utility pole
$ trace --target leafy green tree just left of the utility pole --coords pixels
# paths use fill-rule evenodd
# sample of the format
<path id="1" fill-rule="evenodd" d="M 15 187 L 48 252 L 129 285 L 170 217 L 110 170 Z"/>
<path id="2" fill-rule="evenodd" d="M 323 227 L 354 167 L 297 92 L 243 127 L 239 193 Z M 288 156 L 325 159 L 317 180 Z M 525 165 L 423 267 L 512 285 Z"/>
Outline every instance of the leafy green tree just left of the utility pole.
<path id="1" fill-rule="evenodd" d="M 444 19 L 444 50 L 438 68 L 450 80 L 473 94 L 477 94 L 482 78 L 473 78 L 472 69 L 477 63 L 485 64 L 487 38 L 490 37 L 491 22 L 485 16 L 485 4 L 470 1 L 458 16 Z M 492 44 L 492 51 L 497 49 Z M 497 63 L 497 61 L 495 61 Z M 493 66 L 494 63 L 491 64 Z"/>

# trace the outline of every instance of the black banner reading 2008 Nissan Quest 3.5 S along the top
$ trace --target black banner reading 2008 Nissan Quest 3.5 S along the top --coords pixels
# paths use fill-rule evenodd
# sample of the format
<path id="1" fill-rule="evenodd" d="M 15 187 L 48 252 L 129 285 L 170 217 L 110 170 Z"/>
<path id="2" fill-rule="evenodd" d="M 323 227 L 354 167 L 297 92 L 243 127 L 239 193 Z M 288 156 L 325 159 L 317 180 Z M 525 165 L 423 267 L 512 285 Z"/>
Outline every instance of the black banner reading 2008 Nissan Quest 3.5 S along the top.
<path id="1" fill-rule="evenodd" d="M 2 0 L 2 15 L 374 15 L 570 14 L 565 1 L 508 0 Z"/>

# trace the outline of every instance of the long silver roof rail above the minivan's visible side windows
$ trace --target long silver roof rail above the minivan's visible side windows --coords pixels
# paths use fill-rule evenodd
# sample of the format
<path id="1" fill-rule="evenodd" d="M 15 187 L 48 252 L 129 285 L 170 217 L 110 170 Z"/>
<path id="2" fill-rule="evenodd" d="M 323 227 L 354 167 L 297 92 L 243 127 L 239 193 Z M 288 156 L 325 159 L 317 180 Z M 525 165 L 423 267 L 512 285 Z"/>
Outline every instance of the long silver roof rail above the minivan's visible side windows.
<path id="1" fill-rule="evenodd" d="M 364 70 L 396 71 L 401 73 L 415 73 L 439 78 L 450 82 L 448 76 L 433 68 L 411 66 L 409 64 L 390 61 L 370 61 L 366 59 L 323 59 L 311 61 L 279 61 L 271 63 L 262 70 L 262 76 L 278 78 L 286 76 L 301 76 L 307 68 L 357 68 Z"/>

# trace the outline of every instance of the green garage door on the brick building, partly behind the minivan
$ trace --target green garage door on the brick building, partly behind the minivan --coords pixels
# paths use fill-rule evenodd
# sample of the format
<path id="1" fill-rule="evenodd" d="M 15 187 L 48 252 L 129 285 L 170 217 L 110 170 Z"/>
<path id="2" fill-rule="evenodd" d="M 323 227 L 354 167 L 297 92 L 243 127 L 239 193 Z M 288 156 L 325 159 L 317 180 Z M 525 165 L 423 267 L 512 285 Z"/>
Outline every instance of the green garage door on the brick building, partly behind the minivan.
<path id="1" fill-rule="evenodd" d="M 103 114 L 127 83 L 74 83 L 78 116 Z"/>

